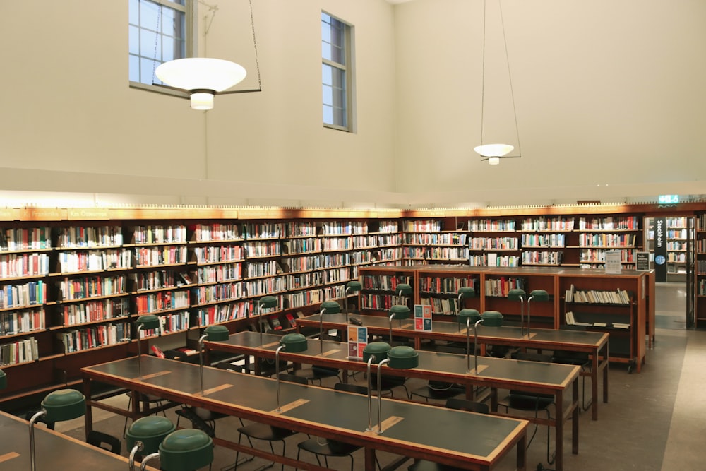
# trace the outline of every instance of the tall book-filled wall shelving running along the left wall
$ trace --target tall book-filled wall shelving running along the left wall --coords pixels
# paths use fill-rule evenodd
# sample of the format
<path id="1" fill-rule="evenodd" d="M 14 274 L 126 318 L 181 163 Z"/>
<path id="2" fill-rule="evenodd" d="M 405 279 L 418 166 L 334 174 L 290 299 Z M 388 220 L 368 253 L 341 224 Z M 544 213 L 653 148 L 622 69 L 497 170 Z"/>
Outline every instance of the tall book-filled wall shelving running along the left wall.
<path id="1" fill-rule="evenodd" d="M 291 330 L 297 314 L 341 299 L 360 267 L 402 259 L 397 219 L 364 211 L 2 215 L 0 364 L 13 381 L 0 402 L 77 384 L 80 368 L 136 354 L 143 314 L 161 325 L 139 331 L 146 345 L 193 349 L 214 323 L 257 329 L 258 299 L 271 295 L 277 307 L 263 309 L 265 328 Z"/>

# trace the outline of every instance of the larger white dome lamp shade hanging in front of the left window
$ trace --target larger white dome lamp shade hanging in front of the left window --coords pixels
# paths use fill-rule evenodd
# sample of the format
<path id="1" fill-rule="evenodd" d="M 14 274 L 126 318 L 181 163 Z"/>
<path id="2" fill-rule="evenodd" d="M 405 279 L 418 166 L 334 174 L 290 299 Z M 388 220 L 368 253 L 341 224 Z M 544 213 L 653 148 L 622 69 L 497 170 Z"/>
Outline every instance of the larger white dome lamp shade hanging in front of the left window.
<path id="1" fill-rule="evenodd" d="M 191 57 L 164 62 L 155 76 L 170 87 L 189 92 L 192 109 L 213 109 L 213 95 L 237 85 L 246 77 L 245 68 L 235 62 Z"/>

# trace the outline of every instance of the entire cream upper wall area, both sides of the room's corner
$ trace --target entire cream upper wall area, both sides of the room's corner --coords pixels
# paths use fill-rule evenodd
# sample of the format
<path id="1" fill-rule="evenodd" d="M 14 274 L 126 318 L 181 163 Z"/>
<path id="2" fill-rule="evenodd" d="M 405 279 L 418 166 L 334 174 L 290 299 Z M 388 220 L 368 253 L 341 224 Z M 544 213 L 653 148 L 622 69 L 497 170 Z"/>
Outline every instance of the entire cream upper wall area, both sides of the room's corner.
<path id="1" fill-rule="evenodd" d="M 208 3 L 200 53 L 241 62 L 239 88 L 255 87 L 248 2 Z M 516 145 L 488 5 L 483 141 Z M 127 0 L 2 1 L 0 205 L 37 191 L 354 207 L 706 193 L 706 2 L 502 5 L 522 159 L 491 167 L 472 150 L 481 0 L 253 0 L 263 92 L 217 96 L 210 112 L 128 87 Z M 355 28 L 357 133 L 321 125 L 321 10 Z"/>

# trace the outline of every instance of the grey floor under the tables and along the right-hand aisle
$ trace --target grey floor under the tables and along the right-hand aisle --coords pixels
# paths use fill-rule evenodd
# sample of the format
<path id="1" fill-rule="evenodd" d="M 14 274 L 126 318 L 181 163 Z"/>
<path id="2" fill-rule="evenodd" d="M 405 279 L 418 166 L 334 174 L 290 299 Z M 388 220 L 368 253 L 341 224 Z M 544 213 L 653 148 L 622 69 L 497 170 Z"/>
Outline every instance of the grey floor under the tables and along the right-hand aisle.
<path id="1" fill-rule="evenodd" d="M 624 364 L 611 364 L 609 372 L 609 403 L 599 405 L 599 419 L 592 421 L 590 412 L 580 415 L 580 449 L 572 455 L 570 427 L 564 440 L 565 470 L 642 470 L 676 471 L 702 470 L 706 467 L 706 402 L 702 385 L 706 383 L 706 332 L 686 330 L 676 318 L 683 318 L 683 285 L 660 284 L 657 290 L 657 314 L 664 316 L 664 326 L 657 328 L 657 341 L 647 352 L 647 362 L 640 374 L 628 374 Z M 672 317 L 672 318 L 669 318 Z M 360 375 L 358 375 L 360 376 Z M 362 381 L 362 378 L 359 378 Z M 325 386 L 333 386 L 332 381 Z M 410 386 L 417 380 L 410 380 Z M 421 382 L 419 382 L 421 384 Z M 587 386 L 589 384 L 587 383 Z M 396 392 L 396 395 L 402 395 Z M 118 398 L 124 402 L 126 398 Z M 176 419 L 173 412 L 167 413 Z M 183 423 L 182 423 L 183 424 Z M 95 414 L 95 428 L 122 436 L 123 419 L 107 412 Z M 570 424 L 568 424 L 570 425 Z M 83 438 L 83 422 L 57 424 L 57 429 Z M 237 419 L 227 417 L 217 424 L 216 434 L 237 439 Z M 552 431 L 553 432 L 553 431 Z M 552 437 L 553 437 L 552 433 Z M 295 435 L 287 439 L 287 455 L 297 453 L 297 442 L 306 438 Z M 469 436 L 469 440 L 476 437 Z M 554 440 L 551 439 L 554 449 Z M 126 455 L 127 451 L 123 451 Z M 390 463 L 393 455 L 379 454 L 381 464 Z M 362 452 L 355 455 L 355 469 L 363 469 Z M 303 457 L 316 463 L 311 456 Z M 217 447 L 213 470 L 232 465 L 234 452 Z M 401 469 L 407 468 L 408 461 Z M 539 463 L 553 466 L 546 459 L 546 428 L 540 427 L 527 451 L 527 469 L 535 470 Z M 239 467 L 256 470 L 263 460 L 256 459 Z M 349 469 L 346 458 L 329 461 L 335 470 Z M 274 469 L 277 469 L 275 467 Z M 498 470 L 514 470 L 514 451 L 505 458 Z"/>

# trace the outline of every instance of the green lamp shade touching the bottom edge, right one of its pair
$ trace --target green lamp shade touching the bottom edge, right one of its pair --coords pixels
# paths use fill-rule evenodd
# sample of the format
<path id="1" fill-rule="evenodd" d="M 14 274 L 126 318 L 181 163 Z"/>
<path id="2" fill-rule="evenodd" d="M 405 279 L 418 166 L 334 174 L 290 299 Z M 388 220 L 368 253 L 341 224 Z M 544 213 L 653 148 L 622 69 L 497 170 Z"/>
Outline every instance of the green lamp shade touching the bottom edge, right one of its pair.
<path id="1" fill-rule="evenodd" d="M 193 471 L 213 461 L 213 440 L 204 431 L 181 429 L 167 435 L 160 444 L 160 469 Z"/>

